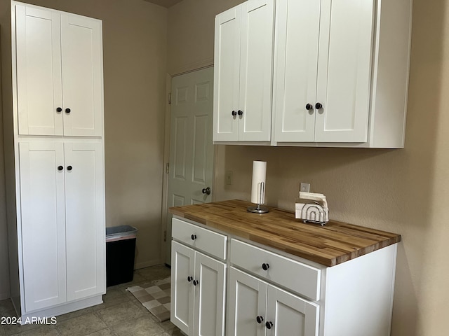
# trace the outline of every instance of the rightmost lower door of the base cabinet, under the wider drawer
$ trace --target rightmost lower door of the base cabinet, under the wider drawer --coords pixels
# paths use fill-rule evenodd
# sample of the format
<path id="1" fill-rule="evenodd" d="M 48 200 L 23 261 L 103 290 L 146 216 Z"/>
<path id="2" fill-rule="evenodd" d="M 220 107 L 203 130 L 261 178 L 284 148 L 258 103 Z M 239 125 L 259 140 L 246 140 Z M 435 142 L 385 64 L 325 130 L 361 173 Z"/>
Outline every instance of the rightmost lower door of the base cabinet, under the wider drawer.
<path id="1" fill-rule="evenodd" d="M 318 336 L 319 306 L 268 285 L 267 336 Z"/>

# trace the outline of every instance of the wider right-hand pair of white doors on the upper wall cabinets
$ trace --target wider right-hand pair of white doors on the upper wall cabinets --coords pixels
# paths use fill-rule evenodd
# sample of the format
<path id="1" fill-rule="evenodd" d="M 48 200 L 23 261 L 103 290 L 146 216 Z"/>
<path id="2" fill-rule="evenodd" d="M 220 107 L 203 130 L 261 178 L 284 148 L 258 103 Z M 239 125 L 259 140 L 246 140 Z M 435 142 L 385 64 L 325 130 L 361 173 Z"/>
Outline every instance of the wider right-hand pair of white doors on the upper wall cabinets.
<path id="1" fill-rule="evenodd" d="M 374 2 L 277 2 L 275 141 L 366 142 Z"/>

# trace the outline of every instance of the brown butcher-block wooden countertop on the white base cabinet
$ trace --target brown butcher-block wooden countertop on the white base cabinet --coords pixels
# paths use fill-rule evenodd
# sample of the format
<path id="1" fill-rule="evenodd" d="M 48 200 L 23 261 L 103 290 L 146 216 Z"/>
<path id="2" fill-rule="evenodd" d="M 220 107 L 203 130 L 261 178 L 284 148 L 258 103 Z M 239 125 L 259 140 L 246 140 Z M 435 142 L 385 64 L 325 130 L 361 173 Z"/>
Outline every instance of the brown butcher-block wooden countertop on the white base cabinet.
<path id="1" fill-rule="evenodd" d="M 335 266 L 401 241 L 401 235 L 329 221 L 325 226 L 302 223 L 293 212 L 269 207 L 267 214 L 253 214 L 250 202 L 229 200 L 172 207 L 182 218 L 231 235 L 278 248 L 301 258 Z"/>

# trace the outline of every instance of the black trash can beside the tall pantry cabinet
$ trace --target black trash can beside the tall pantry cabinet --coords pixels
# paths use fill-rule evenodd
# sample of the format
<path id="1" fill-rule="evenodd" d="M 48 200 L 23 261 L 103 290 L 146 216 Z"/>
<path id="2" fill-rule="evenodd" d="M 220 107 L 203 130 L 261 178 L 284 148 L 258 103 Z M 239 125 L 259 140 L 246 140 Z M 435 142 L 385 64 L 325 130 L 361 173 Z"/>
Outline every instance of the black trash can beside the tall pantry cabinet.
<path id="1" fill-rule="evenodd" d="M 135 239 L 130 225 L 106 228 L 106 286 L 133 281 Z"/>

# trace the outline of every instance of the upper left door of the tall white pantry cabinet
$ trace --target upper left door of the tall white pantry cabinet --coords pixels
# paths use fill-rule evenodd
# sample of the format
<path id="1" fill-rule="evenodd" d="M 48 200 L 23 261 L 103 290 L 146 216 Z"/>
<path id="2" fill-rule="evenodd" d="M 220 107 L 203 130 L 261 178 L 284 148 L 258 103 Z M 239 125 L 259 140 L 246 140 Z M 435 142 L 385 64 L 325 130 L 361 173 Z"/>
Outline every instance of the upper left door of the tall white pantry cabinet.
<path id="1" fill-rule="evenodd" d="M 15 20 L 18 132 L 62 135 L 60 15 L 17 4 Z"/>

